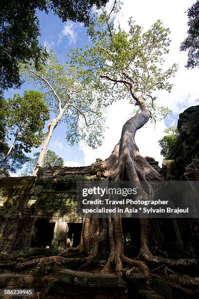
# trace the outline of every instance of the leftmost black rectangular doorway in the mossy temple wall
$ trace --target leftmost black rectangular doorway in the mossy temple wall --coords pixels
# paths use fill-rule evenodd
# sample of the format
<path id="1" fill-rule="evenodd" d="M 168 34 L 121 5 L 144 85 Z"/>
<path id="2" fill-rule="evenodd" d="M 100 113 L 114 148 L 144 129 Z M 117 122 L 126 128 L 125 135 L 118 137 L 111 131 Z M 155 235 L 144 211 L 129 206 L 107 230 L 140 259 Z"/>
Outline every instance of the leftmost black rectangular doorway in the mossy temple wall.
<path id="1" fill-rule="evenodd" d="M 35 223 L 35 230 L 32 237 L 31 247 L 46 248 L 51 247 L 55 222 L 38 220 Z"/>

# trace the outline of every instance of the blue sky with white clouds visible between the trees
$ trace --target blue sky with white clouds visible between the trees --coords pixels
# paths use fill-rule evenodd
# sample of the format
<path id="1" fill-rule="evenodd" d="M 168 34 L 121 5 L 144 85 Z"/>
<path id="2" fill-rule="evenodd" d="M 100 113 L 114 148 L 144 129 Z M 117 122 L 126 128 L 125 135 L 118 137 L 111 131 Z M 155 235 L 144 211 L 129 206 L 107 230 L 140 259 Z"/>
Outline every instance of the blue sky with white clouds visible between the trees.
<path id="1" fill-rule="evenodd" d="M 108 6 L 111 5 L 112 0 Z M 199 70 L 187 70 L 186 64 L 187 54 L 179 51 L 180 43 L 186 37 L 187 17 L 185 11 L 190 7 L 193 0 L 123 0 L 123 6 L 118 16 L 116 24 L 120 23 L 126 30 L 128 18 L 133 14 L 133 18 L 137 23 L 141 24 L 144 29 L 148 29 L 158 19 L 162 20 L 166 27 L 171 30 L 171 51 L 165 61 L 166 67 L 173 63 L 179 64 L 179 71 L 173 79 L 174 87 L 170 94 L 161 91 L 158 93 L 159 104 L 169 107 L 172 114 L 165 120 L 154 125 L 148 125 L 142 128 L 136 135 L 136 142 L 139 146 L 140 153 L 153 156 L 156 160 L 162 162 L 158 140 L 164 135 L 163 130 L 171 125 L 176 125 L 179 113 L 185 108 L 199 105 L 198 99 L 198 78 Z M 161 3 L 161 5 L 160 5 Z M 40 20 L 40 43 L 45 45 L 47 49 L 53 47 L 60 58 L 60 62 L 65 61 L 66 55 L 71 47 L 85 47 L 89 43 L 86 35 L 86 29 L 80 23 L 66 22 L 62 23 L 53 13 L 46 15 L 39 12 Z M 5 93 L 5 97 L 12 97 L 14 92 L 23 93 L 24 90 L 33 89 L 33 86 L 23 84 L 20 90 L 9 90 Z M 39 88 L 38 88 L 39 89 Z M 118 142 L 122 125 L 132 114 L 132 106 L 124 101 L 124 103 L 115 103 L 106 111 L 107 122 L 109 127 L 104 132 L 104 141 L 99 149 L 90 149 L 83 142 L 79 145 L 70 147 L 65 140 L 66 125 L 60 124 L 54 131 L 49 149 L 54 150 L 61 156 L 65 165 L 78 166 L 90 165 L 96 158 L 105 159 L 109 156 L 114 145 Z M 53 115 L 52 115 L 53 116 Z M 47 128 L 47 127 L 46 127 Z M 46 131 L 45 128 L 45 131 Z M 33 149 L 30 156 L 39 149 Z M 19 174 L 19 172 L 18 172 Z"/>

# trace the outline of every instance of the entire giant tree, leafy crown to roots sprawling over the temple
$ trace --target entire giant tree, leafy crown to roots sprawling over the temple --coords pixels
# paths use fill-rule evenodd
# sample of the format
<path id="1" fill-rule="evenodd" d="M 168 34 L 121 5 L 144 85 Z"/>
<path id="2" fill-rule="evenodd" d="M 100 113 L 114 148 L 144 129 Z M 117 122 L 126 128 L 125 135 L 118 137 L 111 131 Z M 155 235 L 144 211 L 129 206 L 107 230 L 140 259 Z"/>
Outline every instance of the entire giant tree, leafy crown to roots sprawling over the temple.
<path id="1" fill-rule="evenodd" d="M 115 2 L 112 11 L 117 11 L 117 9 Z M 154 192 L 150 181 L 161 180 L 161 177 L 147 162 L 147 158 L 139 154 L 135 134 L 152 115 L 153 117 L 157 117 L 158 114 L 165 116 L 167 113 L 163 107 L 157 107 L 154 92 L 161 89 L 170 91 L 172 85 L 168 80 L 177 70 L 176 64 L 167 70 L 163 68 L 164 56 L 169 51 L 169 29 L 165 29 L 162 22 L 157 21 L 149 30 L 143 32 L 141 26 L 129 19 L 129 31 L 125 32 L 120 26 L 115 28 L 111 15 L 103 11 L 100 16 L 95 15 L 94 23 L 89 27 L 88 34 L 93 46 L 85 51 L 79 48 L 73 50 L 71 63 L 79 65 L 78 73 L 81 73 L 82 68 L 86 69 L 99 88 L 103 86 L 104 89 L 106 86 L 107 90 L 112 90 L 114 97 L 126 96 L 132 104 L 139 107 L 137 114 L 124 124 L 119 143 L 111 155 L 105 161 L 95 162 L 91 166 L 91 173 L 102 171 L 107 181 L 134 182 L 139 188 L 139 196 L 143 200 L 148 200 L 153 198 Z M 141 181 L 147 186 L 145 191 L 140 185 Z M 135 269 L 134 267 L 139 267 L 144 275 L 148 276 L 150 270 L 147 263 L 173 266 L 196 264 L 195 260 L 172 260 L 154 256 L 150 251 L 153 247 L 150 235 L 150 231 L 153 231 L 152 224 L 152 219 L 140 218 L 139 258 L 131 259 L 124 255 L 119 214 L 113 218 L 109 217 L 110 255 L 101 272 L 111 272 L 114 268 L 121 277 L 122 263 L 125 263 L 131 265 L 132 270 Z M 99 253 L 99 236 L 102 234 L 100 227 L 100 219 L 84 215 L 82 238 L 79 246 L 73 249 L 76 252 L 84 251 L 88 254 L 84 266 L 88 266 Z M 68 252 L 70 251 L 67 250 L 60 255 L 67 256 Z"/>

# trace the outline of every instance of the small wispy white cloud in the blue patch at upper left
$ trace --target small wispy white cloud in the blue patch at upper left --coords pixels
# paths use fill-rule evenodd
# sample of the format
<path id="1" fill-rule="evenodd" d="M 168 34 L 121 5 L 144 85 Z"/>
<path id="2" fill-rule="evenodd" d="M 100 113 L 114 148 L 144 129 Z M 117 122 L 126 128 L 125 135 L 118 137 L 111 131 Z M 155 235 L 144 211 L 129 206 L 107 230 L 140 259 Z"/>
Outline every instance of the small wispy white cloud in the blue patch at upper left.
<path id="1" fill-rule="evenodd" d="M 72 21 L 67 21 L 63 25 L 63 29 L 58 37 L 58 45 L 63 41 L 64 37 L 66 37 L 70 44 L 75 44 L 77 41 L 77 32 L 75 31 L 75 23 Z"/>

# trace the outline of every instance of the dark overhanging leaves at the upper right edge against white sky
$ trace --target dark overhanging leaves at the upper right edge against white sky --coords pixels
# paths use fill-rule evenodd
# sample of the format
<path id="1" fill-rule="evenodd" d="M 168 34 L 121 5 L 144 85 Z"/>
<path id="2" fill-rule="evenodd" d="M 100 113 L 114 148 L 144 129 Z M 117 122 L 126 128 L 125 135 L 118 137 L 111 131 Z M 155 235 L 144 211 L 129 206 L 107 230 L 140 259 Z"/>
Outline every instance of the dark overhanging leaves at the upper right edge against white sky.
<path id="1" fill-rule="evenodd" d="M 199 66 L 199 0 L 187 10 L 189 18 L 187 31 L 188 36 L 181 43 L 180 50 L 188 50 L 188 60 L 186 67 L 193 68 Z"/>

